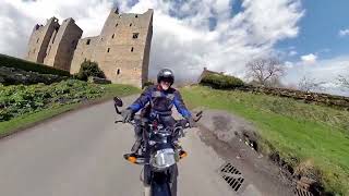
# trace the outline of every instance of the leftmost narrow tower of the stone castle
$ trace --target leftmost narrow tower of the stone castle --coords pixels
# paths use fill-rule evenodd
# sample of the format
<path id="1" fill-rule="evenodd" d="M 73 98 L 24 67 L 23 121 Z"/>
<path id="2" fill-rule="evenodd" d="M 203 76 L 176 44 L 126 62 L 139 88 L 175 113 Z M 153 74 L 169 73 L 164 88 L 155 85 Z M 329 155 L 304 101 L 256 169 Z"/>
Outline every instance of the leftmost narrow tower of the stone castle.
<path id="1" fill-rule="evenodd" d="M 59 24 L 56 17 L 49 19 L 45 26 L 36 24 L 29 38 L 28 53 L 25 59 L 44 63 L 51 36 L 58 28 Z"/>

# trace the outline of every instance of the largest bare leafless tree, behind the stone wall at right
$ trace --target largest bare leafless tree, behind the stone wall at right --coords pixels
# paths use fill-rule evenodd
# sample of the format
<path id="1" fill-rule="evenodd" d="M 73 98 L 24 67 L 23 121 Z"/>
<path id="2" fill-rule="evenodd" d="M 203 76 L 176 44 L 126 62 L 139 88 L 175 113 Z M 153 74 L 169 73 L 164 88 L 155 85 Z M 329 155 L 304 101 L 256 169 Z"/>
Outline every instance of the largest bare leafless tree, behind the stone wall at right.
<path id="1" fill-rule="evenodd" d="M 254 59 L 246 64 L 248 76 L 258 85 L 275 86 L 285 74 L 285 66 L 276 58 Z"/>

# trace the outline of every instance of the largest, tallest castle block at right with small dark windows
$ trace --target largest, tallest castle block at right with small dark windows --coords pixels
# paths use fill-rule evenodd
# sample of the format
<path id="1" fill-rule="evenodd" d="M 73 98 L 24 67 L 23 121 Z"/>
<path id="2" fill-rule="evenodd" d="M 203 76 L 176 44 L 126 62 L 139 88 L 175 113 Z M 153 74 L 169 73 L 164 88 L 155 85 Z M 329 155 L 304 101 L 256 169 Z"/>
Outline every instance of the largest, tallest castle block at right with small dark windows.
<path id="1" fill-rule="evenodd" d="M 99 36 L 79 41 L 71 73 L 79 72 L 84 60 L 92 60 L 113 83 L 143 86 L 148 79 L 153 13 L 120 14 L 113 9 Z"/>

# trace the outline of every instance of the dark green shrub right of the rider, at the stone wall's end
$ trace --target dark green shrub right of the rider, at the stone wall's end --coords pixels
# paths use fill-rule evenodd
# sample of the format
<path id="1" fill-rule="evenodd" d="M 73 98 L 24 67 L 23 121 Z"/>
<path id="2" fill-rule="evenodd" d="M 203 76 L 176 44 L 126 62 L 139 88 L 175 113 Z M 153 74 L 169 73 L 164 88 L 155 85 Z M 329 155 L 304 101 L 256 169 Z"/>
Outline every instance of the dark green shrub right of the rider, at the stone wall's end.
<path id="1" fill-rule="evenodd" d="M 229 89 L 244 86 L 244 83 L 234 76 L 222 75 L 222 74 L 207 74 L 205 75 L 200 84 L 212 86 L 213 88 L 218 89 Z"/>

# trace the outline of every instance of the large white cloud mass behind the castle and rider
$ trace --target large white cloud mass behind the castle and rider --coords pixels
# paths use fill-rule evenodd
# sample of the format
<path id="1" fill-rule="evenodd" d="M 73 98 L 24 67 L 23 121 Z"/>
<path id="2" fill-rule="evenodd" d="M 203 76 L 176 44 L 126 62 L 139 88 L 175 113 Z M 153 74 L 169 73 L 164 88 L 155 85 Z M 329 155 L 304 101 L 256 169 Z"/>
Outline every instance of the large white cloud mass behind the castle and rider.
<path id="1" fill-rule="evenodd" d="M 133 3 L 130 3 L 130 2 Z M 99 34 L 115 4 L 122 12 L 155 10 L 151 76 L 161 66 L 180 78 L 195 79 L 207 66 L 238 76 L 255 57 L 275 53 L 274 45 L 296 37 L 303 15 L 300 0 L 243 0 L 242 12 L 231 16 L 231 0 L 4 0 L 0 1 L 0 52 L 23 57 L 36 23 L 52 15 L 75 19 L 83 36 Z M 132 5 L 130 5 L 132 4 Z M 217 25 L 209 29 L 209 19 Z M 185 72 L 183 72 L 185 70 Z"/>

